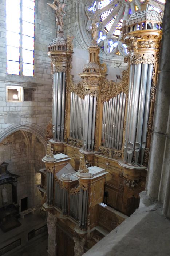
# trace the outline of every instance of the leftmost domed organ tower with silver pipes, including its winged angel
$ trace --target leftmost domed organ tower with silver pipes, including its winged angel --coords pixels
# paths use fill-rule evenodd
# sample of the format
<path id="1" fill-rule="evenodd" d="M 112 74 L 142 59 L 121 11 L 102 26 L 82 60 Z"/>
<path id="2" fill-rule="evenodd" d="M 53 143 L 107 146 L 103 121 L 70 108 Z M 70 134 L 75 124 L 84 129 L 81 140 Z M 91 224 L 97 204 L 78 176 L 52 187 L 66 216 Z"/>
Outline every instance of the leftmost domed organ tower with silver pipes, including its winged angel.
<path id="1" fill-rule="evenodd" d="M 56 22 L 59 25 L 57 38 L 53 39 L 48 46 L 48 56 L 51 59 L 51 71 L 53 74 L 53 100 L 52 100 L 52 140 L 55 153 L 63 151 L 63 142 L 66 139 L 66 121 L 68 104 L 68 74 L 73 53 L 72 37 L 63 37 L 63 8 L 65 4 L 54 1 L 48 4 L 56 12 Z M 49 132 L 48 132 L 49 135 Z M 50 133 L 51 135 L 51 133 Z M 47 136 L 48 138 L 48 136 Z"/>

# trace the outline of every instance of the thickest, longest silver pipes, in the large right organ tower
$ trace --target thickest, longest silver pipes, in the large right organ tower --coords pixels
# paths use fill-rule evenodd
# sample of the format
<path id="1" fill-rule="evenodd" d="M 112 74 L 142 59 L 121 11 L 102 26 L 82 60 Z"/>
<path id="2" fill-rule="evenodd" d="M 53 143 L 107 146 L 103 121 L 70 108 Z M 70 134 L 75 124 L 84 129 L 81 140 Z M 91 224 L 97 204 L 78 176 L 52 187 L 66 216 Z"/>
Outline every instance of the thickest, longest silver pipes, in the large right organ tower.
<path id="1" fill-rule="evenodd" d="M 132 164 L 134 153 L 134 165 L 137 166 L 139 160 L 141 165 L 143 163 L 152 71 L 152 64 L 142 63 L 131 66 L 124 145 L 124 161 L 128 162 L 129 165 Z M 140 153 L 141 158 L 139 159 Z"/>

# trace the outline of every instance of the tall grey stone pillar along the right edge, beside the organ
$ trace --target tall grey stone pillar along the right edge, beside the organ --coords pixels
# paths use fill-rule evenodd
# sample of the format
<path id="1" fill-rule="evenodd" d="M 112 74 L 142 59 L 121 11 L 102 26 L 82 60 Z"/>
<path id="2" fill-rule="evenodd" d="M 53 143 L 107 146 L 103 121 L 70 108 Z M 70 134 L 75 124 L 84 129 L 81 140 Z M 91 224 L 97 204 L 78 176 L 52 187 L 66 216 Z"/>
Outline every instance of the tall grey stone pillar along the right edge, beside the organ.
<path id="1" fill-rule="evenodd" d="M 146 191 L 149 200 L 163 203 L 163 213 L 170 217 L 170 2 L 165 4 L 160 66 L 153 120 Z"/>

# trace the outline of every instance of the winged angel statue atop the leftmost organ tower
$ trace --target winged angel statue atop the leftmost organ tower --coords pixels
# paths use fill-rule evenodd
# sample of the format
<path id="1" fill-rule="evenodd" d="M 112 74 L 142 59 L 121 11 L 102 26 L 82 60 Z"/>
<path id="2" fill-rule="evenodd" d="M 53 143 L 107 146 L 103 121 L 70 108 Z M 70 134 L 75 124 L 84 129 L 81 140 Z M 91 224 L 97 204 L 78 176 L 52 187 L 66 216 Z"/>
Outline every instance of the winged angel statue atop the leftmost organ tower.
<path id="1" fill-rule="evenodd" d="M 66 12 L 63 9 L 66 6 L 66 4 L 61 4 L 59 0 L 55 0 L 52 4 L 48 5 L 55 10 L 56 23 L 57 25 L 59 25 L 59 32 L 63 32 L 63 15 L 66 14 Z"/>

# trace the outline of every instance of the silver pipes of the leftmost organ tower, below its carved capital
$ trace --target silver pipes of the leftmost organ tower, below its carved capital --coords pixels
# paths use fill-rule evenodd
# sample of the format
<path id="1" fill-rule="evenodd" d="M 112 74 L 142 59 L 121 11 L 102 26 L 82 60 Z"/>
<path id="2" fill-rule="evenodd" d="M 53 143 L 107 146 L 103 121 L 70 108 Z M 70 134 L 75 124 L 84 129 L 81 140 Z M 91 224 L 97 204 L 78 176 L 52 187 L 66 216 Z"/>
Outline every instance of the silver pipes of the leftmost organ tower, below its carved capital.
<path id="1" fill-rule="evenodd" d="M 65 72 L 54 73 L 52 124 L 54 141 L 63 141 L 65 114 Z"/>

